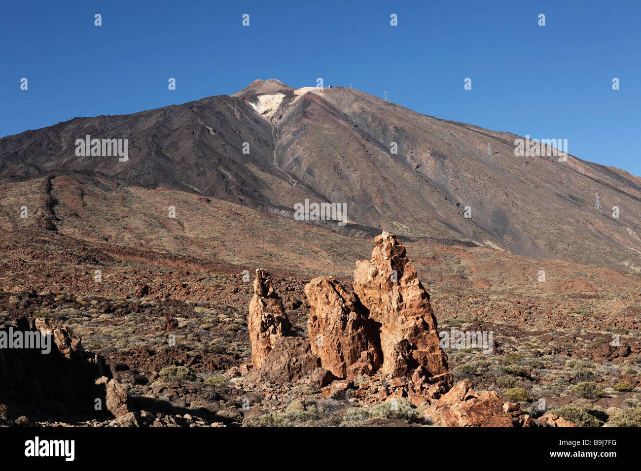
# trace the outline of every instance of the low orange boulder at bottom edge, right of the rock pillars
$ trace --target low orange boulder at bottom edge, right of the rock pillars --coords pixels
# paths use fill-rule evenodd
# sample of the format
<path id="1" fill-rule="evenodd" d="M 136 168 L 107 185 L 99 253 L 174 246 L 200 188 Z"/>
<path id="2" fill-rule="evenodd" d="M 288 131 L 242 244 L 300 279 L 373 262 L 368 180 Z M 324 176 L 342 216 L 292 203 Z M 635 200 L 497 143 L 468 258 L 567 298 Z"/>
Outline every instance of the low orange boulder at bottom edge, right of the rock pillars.
<path id="1" fill-rule="evenodd" d="M 424 414 L 440 427 L 513 427 L 497 393 L 477 395 L 469 379 L 456 384 Z"/>

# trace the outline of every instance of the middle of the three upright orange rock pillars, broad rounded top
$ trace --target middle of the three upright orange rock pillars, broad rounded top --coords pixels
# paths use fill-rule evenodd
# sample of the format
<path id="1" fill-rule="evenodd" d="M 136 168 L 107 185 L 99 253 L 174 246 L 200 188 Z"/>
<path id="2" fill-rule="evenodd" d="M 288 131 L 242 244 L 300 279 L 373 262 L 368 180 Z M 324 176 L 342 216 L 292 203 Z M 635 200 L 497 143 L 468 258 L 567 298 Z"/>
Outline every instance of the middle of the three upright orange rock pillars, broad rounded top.
<path id="1" fill-rule="evenodd" d="M 310 304 L 307 328 L 312 352 L 322 367 L 341 379 L 376 372 L 382 359 L 378 339 L 372 338 L 367 313 L 354 295 L 333 277 L 312 279 L 304 292 Z"/>

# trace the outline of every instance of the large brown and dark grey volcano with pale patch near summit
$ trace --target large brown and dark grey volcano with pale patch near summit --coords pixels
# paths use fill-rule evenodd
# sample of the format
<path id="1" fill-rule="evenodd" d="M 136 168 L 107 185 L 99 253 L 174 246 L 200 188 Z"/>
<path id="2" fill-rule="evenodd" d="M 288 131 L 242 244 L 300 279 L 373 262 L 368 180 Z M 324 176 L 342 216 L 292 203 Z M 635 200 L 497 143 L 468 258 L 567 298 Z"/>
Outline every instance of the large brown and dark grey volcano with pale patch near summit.
<path id="1" fill-rule="evenodd" d="M 128 139 L 129 160 L 77 156 L 87 135 Z M 231 96 L 6 136 L 0 179 L 168 188 L 287 219 L 306 199 L 345 203 L 348 224 L 304 224 L 640 270 L 641 178 L 572 155 L 515 156 L 517 139 L 350 88 L 256 80 Z"/>

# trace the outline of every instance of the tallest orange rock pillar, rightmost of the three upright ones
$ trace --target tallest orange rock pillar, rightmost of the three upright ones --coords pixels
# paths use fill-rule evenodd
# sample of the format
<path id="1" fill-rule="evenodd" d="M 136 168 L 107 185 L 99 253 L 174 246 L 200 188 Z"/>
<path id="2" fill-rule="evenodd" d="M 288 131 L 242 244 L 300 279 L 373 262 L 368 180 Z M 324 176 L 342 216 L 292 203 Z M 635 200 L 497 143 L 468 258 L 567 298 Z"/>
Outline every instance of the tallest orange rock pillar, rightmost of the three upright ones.
<path id="1" fill-rule="evenodd" d="M 429 294 L 406 257 L 405 247 L 386 231 L 374 238 L 372 260 L 356 263 L 354 293 L 379 324 L 383 366 L 392 377 L 419 373 L 428 383 L 452 384 L 439 345 Z"/>

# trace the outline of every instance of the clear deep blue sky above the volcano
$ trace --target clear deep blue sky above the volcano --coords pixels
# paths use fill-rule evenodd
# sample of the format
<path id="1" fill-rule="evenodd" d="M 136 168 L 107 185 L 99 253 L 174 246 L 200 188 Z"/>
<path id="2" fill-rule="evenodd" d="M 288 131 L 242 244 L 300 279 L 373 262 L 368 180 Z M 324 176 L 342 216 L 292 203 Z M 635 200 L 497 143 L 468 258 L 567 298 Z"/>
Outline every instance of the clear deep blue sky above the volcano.
<path id="1" fill-rule="evenodd" d="M 638 0 L 4 2 L 0 136 L 322 77 L 641 175 L 640 17 Z"/>

